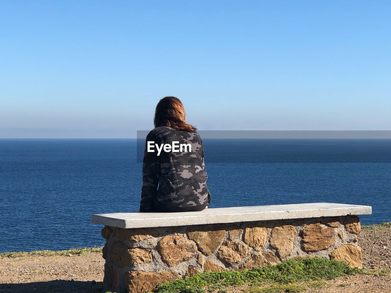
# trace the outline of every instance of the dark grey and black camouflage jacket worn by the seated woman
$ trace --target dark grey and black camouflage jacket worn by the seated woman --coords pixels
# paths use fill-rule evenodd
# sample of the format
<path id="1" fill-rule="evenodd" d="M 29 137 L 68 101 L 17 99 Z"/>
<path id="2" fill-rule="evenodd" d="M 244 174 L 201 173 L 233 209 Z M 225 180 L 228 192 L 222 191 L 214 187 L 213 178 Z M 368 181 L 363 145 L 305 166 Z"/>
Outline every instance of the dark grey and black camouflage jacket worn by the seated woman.
<path id="1" fill-rule="evenodd" d="M 158 155 L 147 152 L 148 141 L 154 144 L 190 144 L 191 152 L 165 152 Z M 187 149 L 188 150 L 188 149 Z M 206 186 L 204 151 L 199 134 L 179 131 L 169 127 L 152 129 L 145 141 L 143 159 L 143 186 L 140 211 L 153 211 L 153 202 L 164 207 L 178 209 L 206 206 L 210 203 L 210 193 Z"/>

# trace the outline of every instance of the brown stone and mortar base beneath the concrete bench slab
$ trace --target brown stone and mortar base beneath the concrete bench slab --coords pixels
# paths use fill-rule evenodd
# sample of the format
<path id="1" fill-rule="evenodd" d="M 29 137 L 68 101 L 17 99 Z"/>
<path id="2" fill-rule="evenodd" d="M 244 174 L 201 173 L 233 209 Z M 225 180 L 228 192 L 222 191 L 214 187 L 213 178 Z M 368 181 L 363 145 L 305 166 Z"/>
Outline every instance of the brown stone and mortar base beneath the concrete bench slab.
<path id="1" fill-rule="evenodd" d="M 151 291 L 204 271 L 239 270 L 292 258 L 325 257 L 361 268 L 357 216 L 157 228 L 105 226 L 104 288 Z"/>

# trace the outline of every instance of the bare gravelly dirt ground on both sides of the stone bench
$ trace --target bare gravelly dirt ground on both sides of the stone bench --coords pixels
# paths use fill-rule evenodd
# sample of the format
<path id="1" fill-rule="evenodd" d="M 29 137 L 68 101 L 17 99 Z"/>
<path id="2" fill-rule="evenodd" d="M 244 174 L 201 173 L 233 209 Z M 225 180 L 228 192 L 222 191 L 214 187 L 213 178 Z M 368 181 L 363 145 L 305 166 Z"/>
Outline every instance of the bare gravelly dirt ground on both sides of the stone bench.
<path id="1" fill-rule="evenodd" d="M 359 243 L 364 268 L 391 269 L 391 227 L 363 229 Z M 98 293 L 103 271 L 104 259 L 97 252 L 0 257 L 0 293 Z M 391 275 L 340 277 L 326 283 L 308 293 L 391 293 Z"/>

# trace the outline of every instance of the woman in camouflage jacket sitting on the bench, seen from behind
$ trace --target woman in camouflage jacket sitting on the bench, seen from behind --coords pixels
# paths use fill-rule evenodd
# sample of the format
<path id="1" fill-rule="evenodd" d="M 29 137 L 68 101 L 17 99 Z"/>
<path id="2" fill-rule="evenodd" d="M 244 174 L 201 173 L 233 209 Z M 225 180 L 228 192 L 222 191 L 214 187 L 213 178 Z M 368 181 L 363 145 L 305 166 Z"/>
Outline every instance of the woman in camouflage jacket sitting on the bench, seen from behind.
<path id="1" fill-rule="evenodd" d="M 156 106 L 154 126 L 145 142 L 140 211 L 187 212 L 207 208 L 210 193 L 202 141 L 196 128 L 185 121 L 182 102 L 174 96 L 162 98 Z M 184 147 L 179 152 L 176 148 L 163 148 L 175 144 Z"/>

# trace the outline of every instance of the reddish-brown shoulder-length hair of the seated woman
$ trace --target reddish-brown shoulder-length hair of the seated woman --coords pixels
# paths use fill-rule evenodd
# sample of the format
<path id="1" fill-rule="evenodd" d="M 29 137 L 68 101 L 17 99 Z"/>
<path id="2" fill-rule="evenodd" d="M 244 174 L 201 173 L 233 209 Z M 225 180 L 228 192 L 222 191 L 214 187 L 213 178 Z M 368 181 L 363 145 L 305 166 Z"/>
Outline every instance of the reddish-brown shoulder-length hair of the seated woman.
<path id="1" fill-rule="evenodd" d="M 185 121 L 185 108 L 181 100 L 174 96 L 165 96 L 159 101 L 156 105 L 153 123 L 155 127 L 167 126 L 189 132 L 197 130 Z"/>

